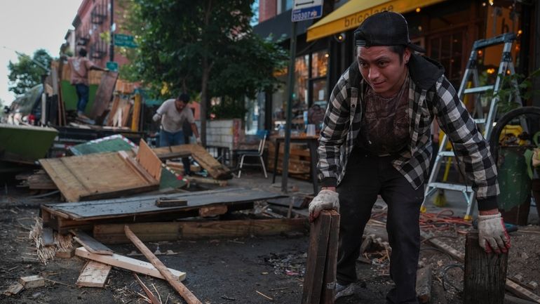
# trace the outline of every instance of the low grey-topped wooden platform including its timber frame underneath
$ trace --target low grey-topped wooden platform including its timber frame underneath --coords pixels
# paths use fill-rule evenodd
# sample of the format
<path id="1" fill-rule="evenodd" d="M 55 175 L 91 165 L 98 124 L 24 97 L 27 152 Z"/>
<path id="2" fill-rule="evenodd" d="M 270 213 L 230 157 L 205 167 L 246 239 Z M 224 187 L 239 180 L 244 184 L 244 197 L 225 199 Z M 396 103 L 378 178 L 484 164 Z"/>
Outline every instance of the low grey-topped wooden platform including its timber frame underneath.
<path id="1" fill-rule="evenodd" d="M 52 227 L 60 233 L 67 233 L 70 229 L 91 232 L 94 225 L 104 223 L 163 222 L 251 209 L 254 201 L 281 196 L 281 194 L 259 190 L 229 188 L 182 194 L 44 204 L 41 206 L 41 218 L 44 227 Z M 162 197 L 184 199 L 187 205 L 167 208 L 156 206 L 156 199 Z"/>

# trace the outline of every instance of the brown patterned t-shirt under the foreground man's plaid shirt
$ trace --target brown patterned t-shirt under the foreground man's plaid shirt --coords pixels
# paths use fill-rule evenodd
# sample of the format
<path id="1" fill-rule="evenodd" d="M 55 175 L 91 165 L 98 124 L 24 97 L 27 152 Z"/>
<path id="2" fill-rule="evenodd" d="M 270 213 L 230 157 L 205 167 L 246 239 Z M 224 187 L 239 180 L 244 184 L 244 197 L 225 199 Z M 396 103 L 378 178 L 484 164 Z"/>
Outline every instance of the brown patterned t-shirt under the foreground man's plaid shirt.
<path id="1" fill-rule="evenodd" d="M 398 154 L 410 142 L 409 77 L 400 91 L 384 98 L 368 87 L 362 100 L 363 119 L 357 143 L 363 150 L 374 155 Z"/>

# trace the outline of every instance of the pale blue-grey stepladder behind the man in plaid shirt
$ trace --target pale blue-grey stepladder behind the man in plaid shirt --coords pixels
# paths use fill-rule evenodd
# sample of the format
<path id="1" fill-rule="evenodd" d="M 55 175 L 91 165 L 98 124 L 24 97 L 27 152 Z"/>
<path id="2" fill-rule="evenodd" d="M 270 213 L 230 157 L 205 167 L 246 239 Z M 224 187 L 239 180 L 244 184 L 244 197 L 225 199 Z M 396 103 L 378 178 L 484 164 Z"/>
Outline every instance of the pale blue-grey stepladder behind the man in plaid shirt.
<path id="1" fill-rule="evenodd" d="M 464 100 L 465 95 L 467 94 L 473 94 L 475 95 L 475 110 L 471 114 L 474 121 L 478 126 L 480 127 L 480 130 L 482 131 L 485 138 L 490 138 L 491 132 L 493 129 L 493 123 L 495 116 L 497 114 L 497 103 L 499 103 L 499 95 L 497 95 L 497 92 L 501 89 L 501 86 L 503 85 L 503 79 L 501 75 L 505 74 L 515 74 L 514 65 L 512 62 L 512 45 L 515 41 L 516 37 L 513 33 L 506 33 L 501 34 L 497 37 L 493 37 L 490 39 L 481 39 L 478 41 L 475 41 L 473 44 L 473 50 L 471 51 L 471 56 L 469 57 L 469 60 L 467 62 L 467 67 L 464 73 L 463 79 L 461 79 L 461 84 L 459 86 L 459 100 Z M 477 67 L 477 61 L 478 61 L 478 51 L 483 50 L 490 46 L 497 46 L 504 44 L 503 52 L 501 56 L 501 62 L 499 63 L 499 70 L 497 72 L 497 79 L 495 80 L 493 85 L 490 86 L 478 86 L 479 79 L 478 79 L 478 67 Z M 469 82 L 471 82 L 472 86 L 470 86 Z M 515 92 L 518 92 L 518 83 L 513 79 L 511 86 L 515 88 Z M 490 101 L 490 110 L 487 112 L 487 115 L 484 114 L 482 110 L 482 104 L 480 102 L 479 95 L 481 93 L 486 93 L 488 91 L 493 91 L 493 98 Z M 521 98 L 519 95 L 514 96 L 515 102 L 521 105 Z M 440 141 L 440 146 L 438 150 L 437 157 L 435 159 L 435 164 L 433 166 L 433 170 L 431 171 L 431 175 L 429 176 L 426 192 L 424 194 L 424 202 L 421 205 L 420 211 L 426 212 L 426 201 L 431 198 L 433 194 L 438 192 L 438 190 L 451 190 L 451 191 L 458 191 L 461 192 L 465 200 L 467 202 L 467 211 L 464 216 L 465 220 L 471 220 L 472 216 L 471 213 L 473 212 L 473 207 L 475 205 L 475 193 L 471 187 L 471 185 L 461 185 L 461 184 L 455 184 L 455 183 L 443 183 L 438 182 L 436 179 L 438 177 L 440 166 L 443 163 L 443 161 L 448 161 L 450 157 L 454 157 L 454 152 L 451 149 L 447 149 L 447 143 L 448 143 L 448 137 L 443 136 L 443 140 Z"/>

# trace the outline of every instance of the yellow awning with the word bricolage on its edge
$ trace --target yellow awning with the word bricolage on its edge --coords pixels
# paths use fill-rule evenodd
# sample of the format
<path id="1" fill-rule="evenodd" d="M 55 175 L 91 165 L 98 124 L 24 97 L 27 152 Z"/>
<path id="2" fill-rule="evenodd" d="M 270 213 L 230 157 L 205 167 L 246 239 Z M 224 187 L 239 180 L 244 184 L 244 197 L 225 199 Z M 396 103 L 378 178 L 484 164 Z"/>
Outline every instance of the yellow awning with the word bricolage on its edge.
<path id="1" fill-rule="evenodd" d="M 445 0 L 349 0 L 307 29 L 307 41 L 356 29 L 365 18 L 380 11 L 407 13 Z"/>

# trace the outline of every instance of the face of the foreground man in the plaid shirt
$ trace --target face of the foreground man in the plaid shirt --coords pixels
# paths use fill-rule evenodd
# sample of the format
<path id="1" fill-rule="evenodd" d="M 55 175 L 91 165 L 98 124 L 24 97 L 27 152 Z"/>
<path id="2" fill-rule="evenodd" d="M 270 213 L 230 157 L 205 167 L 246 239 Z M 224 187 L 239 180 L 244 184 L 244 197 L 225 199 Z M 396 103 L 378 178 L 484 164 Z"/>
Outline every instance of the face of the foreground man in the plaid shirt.
<path id="1" fill-rule="evenodd" d="M 389 46 L 370 46 L 358 48 L 358 66 L 360 73 L 382 97 L 391 97 L 398 93 L 407 73 L 405 64 L 409 62 L 410 51 L 405 48 L 403 60 L 390 50 Z"/>

